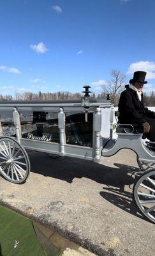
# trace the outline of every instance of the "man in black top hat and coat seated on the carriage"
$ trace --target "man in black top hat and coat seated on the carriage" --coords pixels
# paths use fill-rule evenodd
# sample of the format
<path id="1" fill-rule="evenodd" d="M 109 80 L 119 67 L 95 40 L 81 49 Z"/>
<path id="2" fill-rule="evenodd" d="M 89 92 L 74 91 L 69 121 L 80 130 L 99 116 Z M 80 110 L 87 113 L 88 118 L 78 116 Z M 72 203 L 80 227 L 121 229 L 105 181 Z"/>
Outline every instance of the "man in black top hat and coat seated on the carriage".
<path id="1" fill-rule="evenodd" d="M 133 79 L 129 80 L 126 90 L 121 93 L 119 99 L 119 123 L 140 124 L 144 128 L 146 138 L 155 141 L 155 112 L 145 108 L 143 102 L 142 88 L 146 72 L 137 71 Z"/>

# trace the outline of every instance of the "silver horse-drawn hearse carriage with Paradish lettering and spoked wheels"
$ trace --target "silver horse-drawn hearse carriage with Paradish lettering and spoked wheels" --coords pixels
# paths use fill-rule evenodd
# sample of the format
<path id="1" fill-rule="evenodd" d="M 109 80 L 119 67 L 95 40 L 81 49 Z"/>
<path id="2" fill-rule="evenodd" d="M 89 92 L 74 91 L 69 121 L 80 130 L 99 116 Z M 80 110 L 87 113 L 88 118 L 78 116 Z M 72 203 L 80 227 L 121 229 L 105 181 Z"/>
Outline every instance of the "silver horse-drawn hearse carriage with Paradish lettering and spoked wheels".
<path id="1" fill-rule="evenodd" d="M 116 124 L 110 100 L 89 97 L 89 86 L 79 100 L 0 102 L 0 173 L 13 183 L 26 181 L 30 172 L 26 150 L 53 157 L 70 156 L 96 163 L 122 148 L 137 154 L 142 172 L 133 196 L 140 211 L 155 223 L 155 152 L 142 139 L 142 127 Z"/>

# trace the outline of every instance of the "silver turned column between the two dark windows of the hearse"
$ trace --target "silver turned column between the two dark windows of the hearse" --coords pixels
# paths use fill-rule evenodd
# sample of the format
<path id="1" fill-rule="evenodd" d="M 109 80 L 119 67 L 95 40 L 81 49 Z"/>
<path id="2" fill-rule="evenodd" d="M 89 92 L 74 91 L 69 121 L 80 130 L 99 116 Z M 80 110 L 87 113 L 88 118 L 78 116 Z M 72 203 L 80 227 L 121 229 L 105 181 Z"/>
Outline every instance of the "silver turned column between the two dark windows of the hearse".
<path id="1" fill-rule="evenodd" d="M 66 141 L 65 141 L 65 114 L 64 114 L 63 108 L 59 108 L 58 127 L 59 127 L 59 137 L 60 137 L 59 155 L 64 156 L 64 144 L 66 143 Z"/>

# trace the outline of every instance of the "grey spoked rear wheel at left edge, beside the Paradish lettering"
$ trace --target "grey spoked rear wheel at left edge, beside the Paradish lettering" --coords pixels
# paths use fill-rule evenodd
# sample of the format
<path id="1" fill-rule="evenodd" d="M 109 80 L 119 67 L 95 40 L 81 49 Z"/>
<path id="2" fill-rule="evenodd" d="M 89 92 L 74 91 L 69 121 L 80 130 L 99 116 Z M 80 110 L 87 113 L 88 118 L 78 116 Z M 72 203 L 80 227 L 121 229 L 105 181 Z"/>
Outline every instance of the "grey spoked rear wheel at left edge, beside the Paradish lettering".
<path id="1" fill-rule="evenodd" d="M 13 138 L 0 138 L 0 173 L 7 180 L 22 184 L 30 172 L 26 150 Z"/>

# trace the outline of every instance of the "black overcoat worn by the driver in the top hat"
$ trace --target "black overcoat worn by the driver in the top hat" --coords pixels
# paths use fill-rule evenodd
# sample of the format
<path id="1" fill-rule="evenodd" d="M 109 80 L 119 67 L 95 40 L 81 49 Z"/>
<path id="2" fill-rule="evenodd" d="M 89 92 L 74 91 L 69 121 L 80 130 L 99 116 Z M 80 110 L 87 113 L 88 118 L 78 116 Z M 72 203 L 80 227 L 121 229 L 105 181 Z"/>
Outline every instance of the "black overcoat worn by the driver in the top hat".
<path id="1" fill-rule="evenodd" d="M 143 95 L 140 101 L 137 92 L 129 88 L 129 85 L 121 93 L 118 107 L 120 124 L 143 124 L 148 122 L 147 118 L 155 118 L 155 113 L 145 108 Z"/>

